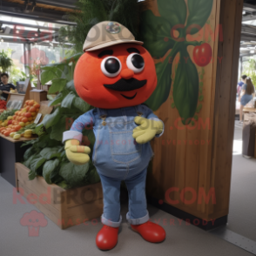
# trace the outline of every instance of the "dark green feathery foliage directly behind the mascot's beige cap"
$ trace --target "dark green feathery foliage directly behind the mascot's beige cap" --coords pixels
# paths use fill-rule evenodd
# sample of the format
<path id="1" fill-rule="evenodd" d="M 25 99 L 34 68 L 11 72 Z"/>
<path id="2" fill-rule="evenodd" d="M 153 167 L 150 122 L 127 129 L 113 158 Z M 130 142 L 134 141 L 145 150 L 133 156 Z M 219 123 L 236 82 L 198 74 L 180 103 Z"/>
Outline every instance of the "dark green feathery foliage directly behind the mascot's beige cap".
<path id="1" fill-rule="evenodd" d="M 62 43 L 74 44 L 76 52 L 83 51 L 84 40 L 94 24 L 110 20 L 125 25 L 136 37 L 138 35 L 137 0 L 79 0 L 77 10 L 67 15 L 76 26 L 62 27 L 59 39 Z"/>

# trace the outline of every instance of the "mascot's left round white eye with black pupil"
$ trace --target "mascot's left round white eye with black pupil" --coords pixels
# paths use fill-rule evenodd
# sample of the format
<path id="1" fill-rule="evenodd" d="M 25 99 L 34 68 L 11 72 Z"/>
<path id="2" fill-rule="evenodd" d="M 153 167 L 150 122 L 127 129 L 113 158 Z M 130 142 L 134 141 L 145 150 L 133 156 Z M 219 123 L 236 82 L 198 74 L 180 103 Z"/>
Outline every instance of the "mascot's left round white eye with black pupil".
<path id="1" fill-rule="evenodd" d="M 107 77 L 116 77 L 122 70 L 122 64 L 117 57 L 105 57 L 101 63 L 101 71 Z"/>

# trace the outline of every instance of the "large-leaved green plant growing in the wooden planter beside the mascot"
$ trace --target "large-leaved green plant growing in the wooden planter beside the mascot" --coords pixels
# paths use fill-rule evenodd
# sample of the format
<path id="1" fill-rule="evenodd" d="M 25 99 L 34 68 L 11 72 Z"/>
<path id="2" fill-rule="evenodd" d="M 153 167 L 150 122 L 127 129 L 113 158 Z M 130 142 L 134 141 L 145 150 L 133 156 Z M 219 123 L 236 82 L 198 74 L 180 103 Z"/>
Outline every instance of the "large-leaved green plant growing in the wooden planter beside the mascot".
<path id="1" fill-rule="evenodd" d="M 80 56 L 77 54 L 60 64 L 48 64 L 42 68 L 42 83 L 51 80 L 49 93 L 58 91 L 58 94 L 49 103 L 54 110 L 35 128 L 34 132 L 39 137 L 24 144 L 31 145 L 24 154 L 24 165 L 30 168 L 29 178 L 35 179 L 40 175 L 48 184 L 55 183 L 65 189 L 99 182 L 92 162 L 73 165 L 66 158 L 62 143 L 63 132 L 70 130 L 75 119 L 92 109 L 78 97 L 73 83 L 74 67 Z M 82 143 L 90 146 L 92 152 L 95 142 L 93 131 L 84 129 L 83 135 Z"/>

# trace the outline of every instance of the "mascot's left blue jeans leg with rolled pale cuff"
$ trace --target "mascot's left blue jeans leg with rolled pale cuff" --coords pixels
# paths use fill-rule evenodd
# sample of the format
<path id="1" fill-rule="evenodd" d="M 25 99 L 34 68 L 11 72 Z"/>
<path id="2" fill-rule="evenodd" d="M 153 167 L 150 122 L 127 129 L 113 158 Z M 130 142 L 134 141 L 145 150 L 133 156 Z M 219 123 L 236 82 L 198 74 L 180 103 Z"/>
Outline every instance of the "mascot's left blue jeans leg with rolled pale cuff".
<path id="1" fill-rule="evenodd" d="M 118 227 L 121 225 L 120 216 L 120 179 L 114 179 L 99 174 L 103 189 L 104 212 L 101 221 L 106 226 Z"/>

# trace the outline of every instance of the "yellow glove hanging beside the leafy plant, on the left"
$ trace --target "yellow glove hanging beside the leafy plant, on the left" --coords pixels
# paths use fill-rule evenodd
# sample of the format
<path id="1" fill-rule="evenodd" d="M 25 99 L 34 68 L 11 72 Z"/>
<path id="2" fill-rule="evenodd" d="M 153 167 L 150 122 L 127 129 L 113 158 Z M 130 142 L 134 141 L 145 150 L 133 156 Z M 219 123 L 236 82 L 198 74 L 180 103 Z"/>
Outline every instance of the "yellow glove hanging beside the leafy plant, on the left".
<path id="1" fill-rule="evenodd" d="M 74 165 L 85 165 L 89 162 L 90 147 L 79 145 L 79 140 L 70 139 L 65 142 L 65 152 L 67 158 Z"/>

